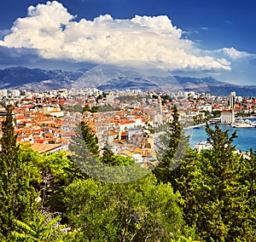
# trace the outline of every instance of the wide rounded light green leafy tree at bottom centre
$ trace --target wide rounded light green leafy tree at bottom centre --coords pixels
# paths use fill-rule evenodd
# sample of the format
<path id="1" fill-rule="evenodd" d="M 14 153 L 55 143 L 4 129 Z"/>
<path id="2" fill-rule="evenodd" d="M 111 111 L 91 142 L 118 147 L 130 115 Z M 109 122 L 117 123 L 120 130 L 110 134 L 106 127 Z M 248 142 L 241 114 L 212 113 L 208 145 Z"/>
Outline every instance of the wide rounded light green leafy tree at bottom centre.
<path id="1" fill-rule="evenodd" d="M 179 195 L 149 175 L 125 184 L 73 182 L 66 188 L 67 216 L 78 241 L 170 241 L 183 228 Z"/>

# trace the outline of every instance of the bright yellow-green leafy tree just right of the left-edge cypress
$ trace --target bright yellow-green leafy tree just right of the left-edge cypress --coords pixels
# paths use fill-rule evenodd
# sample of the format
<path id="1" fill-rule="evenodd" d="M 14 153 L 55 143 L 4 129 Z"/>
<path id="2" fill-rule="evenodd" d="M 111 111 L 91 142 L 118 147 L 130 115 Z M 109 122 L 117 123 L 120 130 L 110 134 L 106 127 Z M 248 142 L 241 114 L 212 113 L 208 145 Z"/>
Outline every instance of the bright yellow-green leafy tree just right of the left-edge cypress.
<path id="1" fill-rule="evenodd" d="M 20 157 L 29 171 L 29 182 L 42 198 L 42 207 L 52 212 L 65 210 L 63 189 L 74 179 L 85 178 L 66 152 L 40 155 L 29 145 L 20 147 Z"/>

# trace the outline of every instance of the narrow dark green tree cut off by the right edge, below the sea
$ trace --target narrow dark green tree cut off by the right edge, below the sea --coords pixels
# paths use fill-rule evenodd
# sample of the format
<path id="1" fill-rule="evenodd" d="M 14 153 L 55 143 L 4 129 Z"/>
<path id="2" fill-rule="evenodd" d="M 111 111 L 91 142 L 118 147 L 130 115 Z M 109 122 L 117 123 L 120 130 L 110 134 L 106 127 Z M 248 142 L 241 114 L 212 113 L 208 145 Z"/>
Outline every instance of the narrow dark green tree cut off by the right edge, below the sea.
<path id="1" fill-rule="evenodd" d="M 251 149 L 249 157 L 239 157 L 236 166 L 236 182 L 230 184 L 230 222 L 228 239 L 252 241 L 256 238 L 256 159 Z"/>

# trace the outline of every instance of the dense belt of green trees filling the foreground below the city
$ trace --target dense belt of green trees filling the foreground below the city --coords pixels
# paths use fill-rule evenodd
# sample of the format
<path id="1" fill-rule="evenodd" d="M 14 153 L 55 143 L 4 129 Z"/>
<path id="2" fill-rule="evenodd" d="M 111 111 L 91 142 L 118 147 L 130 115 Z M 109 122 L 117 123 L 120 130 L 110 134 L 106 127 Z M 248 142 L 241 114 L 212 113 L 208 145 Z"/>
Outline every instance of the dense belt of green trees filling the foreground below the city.
<path id="1" fill-rule="evenodd" d="M 236 132 L 207 125 L 213 148 L 198 153 L 189 148 L 175 109 L 167 150 L 153 172 L 133 182 L 102 182 L 70 153 L 40 155 L 17 144 L 13 122 L 8 108 L 1 138 L 0 241 L 256 238 L 256 153 L 234 153 Z M 108 148 L 101 154 L 90 128 L 82 122 L 80 130 L 88 150 L 79 155 L 109 166 L 133 164 Z M 186 151 L 183 156 L 178 148 Z"/>

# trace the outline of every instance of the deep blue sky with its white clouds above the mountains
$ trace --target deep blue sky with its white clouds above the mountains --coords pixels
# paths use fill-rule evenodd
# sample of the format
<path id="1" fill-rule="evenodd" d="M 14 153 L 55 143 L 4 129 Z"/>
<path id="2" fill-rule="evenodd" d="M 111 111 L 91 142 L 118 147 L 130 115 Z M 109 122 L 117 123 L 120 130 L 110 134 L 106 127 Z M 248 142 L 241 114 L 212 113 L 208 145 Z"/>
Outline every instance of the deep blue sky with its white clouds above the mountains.
<path id="1" fill-rule="evenodd" d="M 149 61 L 174 75 L 256 85 L 255 0 L 9 0 L 0 69 Z"/>

